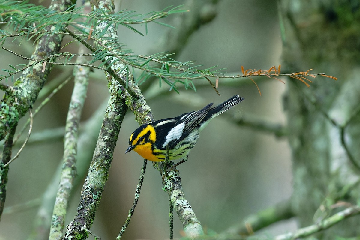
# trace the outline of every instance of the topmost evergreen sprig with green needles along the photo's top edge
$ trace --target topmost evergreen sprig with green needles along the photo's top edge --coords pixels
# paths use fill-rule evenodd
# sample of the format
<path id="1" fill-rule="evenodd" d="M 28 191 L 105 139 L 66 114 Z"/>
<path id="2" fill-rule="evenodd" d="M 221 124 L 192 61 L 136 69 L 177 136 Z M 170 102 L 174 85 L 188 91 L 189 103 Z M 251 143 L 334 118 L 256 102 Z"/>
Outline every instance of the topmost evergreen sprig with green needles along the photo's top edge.
<path id="1" fill-rule="evenodd" d="M 181 5 L 182 6 L 182 5 Z M 89 27 L 94 28 L 101 22 L 109 22 L 115 24 L 116 27 L 122 25 L 130 28 L 132 31 L 138 32 L 131 24 L 146 24 L 155 22 L 164 26 L 172 27 L 166 23 L 158 22 L 157 19 L 168 17 L 171 14 L 187 12 L 187 10 L 179 9 L 181 6 L 174 8 L 168 7 L 162 11 L 153 11 L 147 14 L 136 14 L 135 11 L 121 10 L 114 14 L 104 14 L 102 9 L 96 9 L 88 14 L 84 14 L 82 7 L 75 8 L 71 6 L 64 12 L 55 12 L 44 6 L 29 3 L 29 1 L 13 1 L 5 0 L 0 5 L 4 13 L 0 14 L 0 19 L 6 23 L 8 27 L 12 27 L 15 31 L 22 31 L 30 35 L 32 32 L 43 31 L 46 26 L 54 26 L 51 33 L 64 32 L 64 26 L 72 26 L 78 32 L 87 34 Z M 171 9 L 170 9 L 171 8 Z M 104 15 L 106 17 L 104 17 Z M 84 22 L 86 19 L 86 22 Z M 100 33 L 106 32 L 106 28 Z"/>

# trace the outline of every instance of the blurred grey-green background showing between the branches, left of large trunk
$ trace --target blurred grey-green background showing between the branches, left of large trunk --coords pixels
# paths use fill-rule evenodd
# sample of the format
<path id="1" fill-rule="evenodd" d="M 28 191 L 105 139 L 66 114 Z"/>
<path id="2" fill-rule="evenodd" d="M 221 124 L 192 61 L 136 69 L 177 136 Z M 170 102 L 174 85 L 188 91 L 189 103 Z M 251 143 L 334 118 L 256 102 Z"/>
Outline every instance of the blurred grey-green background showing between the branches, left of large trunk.
<path id="1" fill-rule="evenodd" d="M 188 9 L 186 4 L 189 2 L 122 0 L 121 3 L 116 1 L 116 10 L 129 9 L 145 14 L 170 5 L 185 4 L 182 9 Z M 37 1 L 33 3 L 39 4 Z M 46 5 L 48 2 L 42 1 L 40 4 Z M 242 74 L 241 65 L 245 69 L 269 69 L 280 64 L 282 48 L 275 0 L 219 1 L 215 10 L 215 19 L 200 26 L 199 30 L 189 37 L 176 60 L 196 60 L 196 64 L 204 64 L 204 68 L 219 65 L 220 68 L 227 68 L 229 75 Z M 176 26 L 179 17 L 180 15 L 171 15 L 159 21 Z M 135 27 L 145 33 L 144 26 Z M 150 55 L 168 51 L 165 40 L 168 34 L 172 34 L 171 31 L 177 29 L 171 30 L 150 23 L 145 36 L 126 27 L 119 27 L 118 35 L 120 42 L 133 49 L 135 54 Z M 71 39 L 65 39 L 65 42 L 69 41 Z M 8 41 L 4 46 L 25 56 L 32 53 L 31 42 L 22 42 L 19 46 L 16 41 Z M 77 43 L 72 43 L 64 51 L 75 53 L 77 48 Z M 9 68 L 8 64 L 26 63 L 5 51 L 0 54 L 1 69 Z M 71 72 L 71 66 L 55 67 L 47 84 L 66 78 Z M 245 98 L 227 114 L 213 119 L 201 133 L 198 144 L 189 154 L 189 160 L 178 168 L 186 199 L 205 231 L 214 230 L 220 233 L 248 214 L 270 207 L 291 195 L 291 154 L 287 141 L 278 139 L 271 133 L 238 126 L 229 116 L 258 117 L 271 123 L 285 123 L 282 109 L 285 85 L 270 78 L 253 79 L 258 82 L 262 96 L 248 78 L 231 81 L 220 79 L 218 90 L 221 97 L 204 80 L 195 81 L 197 92 L 181 89 L 180 95 L 174 91 L 163 91 L 165 94 L 157 95 L 158 80 L 154 80 L 154 87 L 144 92 L 156 119 L 198 110 L 210 102 L 216 105 L 235 94 Z M 285 80 L 287 81 L 295 80 Z M 162 89 L 167 90 L 168 86 L 163 83 Z M 69 83 L 51 99 L 35 117 L 32 134 L 64 126 L 71 92 L 72 83 Z M 105 75 L 95 70 L 91 73 L 83 121 L 86 121 L 108 96 Z M 35 107 L 39 104 L 40 101 Z M 26 118 L 21 120 L 19 126 L 22 126 Z M 124 152 L 130 134 L 138 126 L 129 111 L 122 123 L 109 180 L 91 228 L 91 231 L 102 239 L 116 238 L 134 200 L 143 159 L 135 152 L 126 155 Z M 97 135 L 99 127 L 92 131 Z M 14 153 L 18 149 L 19 147 L 15 148 Z M 93 151 L 92 148 L 88 150 Z M 41 197 L 62 156 L 61 138 L 26 146 L 20 157 L 10 165 L 5 208 Z M 87 171 L 87 167 L 84 168 L 83 170 Z M 76 213 L 83 181 L 82 178 L 73 192 L 66 225 Z M 0 224 L 0 239 L 26 239 L 32 231 L 36 213 L 36 207 L 11 214 L 4 213 Z M 269 234 L 280 234 L 293 230 L 295 226 L 294 222 L 288 222 L 266 228 L 266 231 Z M 179 238 L 181 234 L 182 224 L 175 214 L 174 236 Z M 162 190 L 161 176 L 153 169 L 151 162 L 148 163 L 145 173 L 139 203 L 123 238 L 168 238 L 168 195 Z M 93 237 L 90 236 L 89 239 Z"/>

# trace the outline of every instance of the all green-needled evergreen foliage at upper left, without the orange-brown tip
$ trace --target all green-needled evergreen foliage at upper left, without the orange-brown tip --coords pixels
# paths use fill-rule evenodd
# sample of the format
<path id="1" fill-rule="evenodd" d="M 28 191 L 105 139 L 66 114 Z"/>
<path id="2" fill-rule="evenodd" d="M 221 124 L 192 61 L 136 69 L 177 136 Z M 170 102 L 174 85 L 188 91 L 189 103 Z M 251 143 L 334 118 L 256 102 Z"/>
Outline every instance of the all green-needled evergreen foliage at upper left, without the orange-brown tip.
<path id="1" fill-rule="evenodd" d="M 22 40 L 29 41 L 31 39 L 34 39 L 33 41 L 36 42 L 46 34 L 70 35 L 84 45 L 86 42 L 87 47 L 93 51 L 92 60 L 89 64 L 94 68 L 108 70 L 113 64 L 120 61 L 125 65 L 123 70 L 141 70 L 140 75 L 138 77 L 135 76 L 135 82 L 137 84 L 147 81 L 150 77 L 157 77 L 160 86 L 162 82 L 165 82 L 170 86 L 170 90 L 175 91 L 177 91 L 177 83 L 184 85 L 186 89 L 190 88 L 196 91 L 193 80 L 201 78 L 205 79 L 209 74 L 222 74 L 219 71 L 213 71 L 215 67 L 197 69 L 202 65 L 194 65 L 194 61 L 175 61 L 170 58 L 172 55 L 171 53 L 156 53 L 150 56 L 133 55 L 132 50 L 127 49 L 125 44 L 119 43 L 117 39 L 113 39 L 112 37 L 104 36 L 110 26 L 126 26 L 141 35 L 143 35 L 143 33 L 130 25 L 143 23 L 145 24 L 146 32 L 147 24 L 149 22 L 155 22 L 171 27 L 168 24 L 157 22 L 156 20 L 168 17 L 171 14 L 186 12 L 186 10 L 179 9 L 181 6 L 173 8 L 168 7 L 159 12 L 150 12 L 142 15 L 136 14 L 135 11 L 127 10 L 122 10 L 114 14 L 104 14 L 101 8 L 88 14 L 84 14 L 82 13 L 82 8 L 75 8 L 74 6 L 68 8 L 65 12 L 57 13 L 43 6 L 36 6 L 28 3 L 28 1 L 19 2 L 8 0 L 4 1 L 4 4 L 10 7 L 7 8 L 6 13 L 2 15 L 1 20 L 8 21 L 3 23 L 6 23 L 8 29 L 11 27 L 16 33 L 12 34 L 12 32 L 8 30 L 0 30 L 1 46 L 9 37 L 13 37 L 13 41 L 21 37 L 20 42 Z M 86 22 L 83 20 L 84 17 L 86 18 Z M 108 24 L 106 27 L 102 28 L 101 31 L 94 31 L 100 22 L 107 22 Z M 55 27 L 50 31 L 46 31 L 45 27 L 50 24 Z M 66 25 L 72 26 L 72 34 L 69 34 L 68 28 L 64 27 Z M 89 39 L 94 40 L 95 44 L 99 47 L 95 48 L 95 44 L 89 44 Z M 103 44 L 102 42 L 104 41 L 100 41 L 99 39 L 107 39 L 108 41 L 105 41 L 106 44 Z M 69 44 L 71 43 L 72 42 Z M 51 63 L 59 65 L 59 60 L 57 60 L 57 58 L 60 56 L 64 57 L 62 58 L 61 65 L 67 65 L 74 55 L 75 54 L 72 53 L 60 53 L 52 55 L 47 59 L 34 61 L 28 65 L 22 64 L 22 68 L 19 69 L 11 66 L 11 69 L 1 69 L 8 74 L 2 74 L 0 80 L 8 80 L 9 77 L 13 80 L 14 74 L 21 72 L 26 68 L 31 68 L 36 64 L 44 64 L 45 62 L 45 64 Z M 22 58 L 26 59 L 25 57 Z M 98 61 L 101 63 L 99 65 L 94 65 Z"/>

